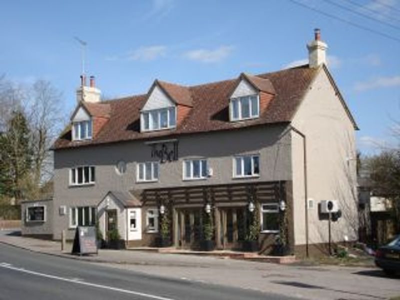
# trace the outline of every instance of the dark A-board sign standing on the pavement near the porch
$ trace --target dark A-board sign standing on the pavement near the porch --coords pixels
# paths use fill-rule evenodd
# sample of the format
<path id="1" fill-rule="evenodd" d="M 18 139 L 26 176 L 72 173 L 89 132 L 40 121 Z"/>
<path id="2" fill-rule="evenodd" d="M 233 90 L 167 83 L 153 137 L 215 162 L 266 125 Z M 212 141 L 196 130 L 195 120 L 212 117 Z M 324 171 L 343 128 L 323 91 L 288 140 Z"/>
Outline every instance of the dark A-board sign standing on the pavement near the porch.
<path id="1" fill-rule="evenodd" d="M 73 239 L 72 254 L 97 253 L 96 227 L 78 226 Z"/>

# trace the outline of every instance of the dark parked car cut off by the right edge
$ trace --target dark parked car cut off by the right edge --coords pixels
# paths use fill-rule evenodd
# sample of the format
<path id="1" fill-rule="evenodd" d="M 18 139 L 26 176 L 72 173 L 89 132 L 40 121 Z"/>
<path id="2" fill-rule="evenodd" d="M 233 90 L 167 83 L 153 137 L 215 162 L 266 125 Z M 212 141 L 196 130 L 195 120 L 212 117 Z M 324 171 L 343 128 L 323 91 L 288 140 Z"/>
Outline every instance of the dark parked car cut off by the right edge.
<path id="1" fill-rule="evenodd" d="M 400 273 L 400 234 L 376 250 L 375 264 L 388 275 Z"/>

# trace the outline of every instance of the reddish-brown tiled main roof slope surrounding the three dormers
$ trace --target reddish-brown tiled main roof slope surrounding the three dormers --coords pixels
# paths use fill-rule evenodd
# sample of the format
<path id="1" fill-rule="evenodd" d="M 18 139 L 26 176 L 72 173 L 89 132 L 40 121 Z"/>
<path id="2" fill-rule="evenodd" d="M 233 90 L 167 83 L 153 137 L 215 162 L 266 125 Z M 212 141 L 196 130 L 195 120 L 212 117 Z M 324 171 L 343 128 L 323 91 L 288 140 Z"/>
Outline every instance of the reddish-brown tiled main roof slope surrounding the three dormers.
<path id="1" fill-rule="evenodd" d="M 238 83 L 237 78 L 189 87 L 158 81 L 171 97 L 184 99 L 185 103 L 188 103 L 189 97 L 191 99 L 190 106 L 192 108 L 176 129 L 140 132 L 140 109 L 146 101 L 146 95 L 135 95 L 96 104 L 86 103 L 92 110 L 107 111 L 109 109 L 109 120 L 92 140 L 71 141 L 70 130 L 66 130 L 56 140 L 53 148 L 289 122 L 318 70 L 319 68 L 309 68 L 308 65 L 303 65 L 256 76 L 250 75 L 253 84 L 261 86 L 262 89 L 270 90 L 271 84 L 274 96 L 259 118 L 239 122 L 229 122 L 228 113 L 229 96 Z M 249 75 L 246 74 L 246 76 Z M 263 78 L 268 80 L 263 80 Z M 109 108 L 105 108 L 108 106 Z"/>

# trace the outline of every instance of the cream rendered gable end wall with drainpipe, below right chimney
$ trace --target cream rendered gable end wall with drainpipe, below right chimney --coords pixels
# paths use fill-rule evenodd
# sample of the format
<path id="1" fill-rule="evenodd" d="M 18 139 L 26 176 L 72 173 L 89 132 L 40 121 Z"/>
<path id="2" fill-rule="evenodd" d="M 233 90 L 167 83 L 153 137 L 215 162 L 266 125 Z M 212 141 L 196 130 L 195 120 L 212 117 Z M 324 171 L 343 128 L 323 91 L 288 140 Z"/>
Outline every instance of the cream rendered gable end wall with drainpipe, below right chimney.
<path id="1" fill-rule="evenodd" d="M 358 217 L 354 127 L 323 68 L 298 108 L 292 125 L 306 136 L 309 243 L 328 241 L 328 221 L 318 215 L 321 200 L 338 200 L 342 217 L 331 224 L 332 240 L 357 239 Z M 291 131 L 295 244 L 305 244 L 303 140 Z"/>

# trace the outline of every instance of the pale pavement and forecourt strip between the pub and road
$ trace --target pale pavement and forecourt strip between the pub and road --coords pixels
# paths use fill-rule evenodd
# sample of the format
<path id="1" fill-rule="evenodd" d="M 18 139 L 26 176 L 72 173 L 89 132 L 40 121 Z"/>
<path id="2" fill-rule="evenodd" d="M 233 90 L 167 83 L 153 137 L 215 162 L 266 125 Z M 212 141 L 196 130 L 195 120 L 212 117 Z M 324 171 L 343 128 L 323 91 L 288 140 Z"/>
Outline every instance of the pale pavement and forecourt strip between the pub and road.
<path id="1" fill-rule="evenodd" d="M 387 299 L 400 295 L 400 278 L 386 277 L 378 268 L 280 265 L 224 257 L 148 251 L 100 249 L 98 255 L 76 256 L 60 243 L 0 231 L 0 242 L 69 260 L 95 262 L 119 271 L 139 272 L 164 280 L 241 288 L 303 299 Z M 82 261 L 77 261 L 82 262 Z M 1 295 L 0 295 L 1 298 Z M 205 298 L 205 296 L 204 296 Z"/>

